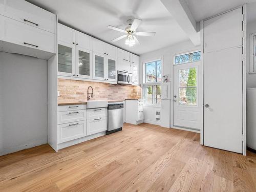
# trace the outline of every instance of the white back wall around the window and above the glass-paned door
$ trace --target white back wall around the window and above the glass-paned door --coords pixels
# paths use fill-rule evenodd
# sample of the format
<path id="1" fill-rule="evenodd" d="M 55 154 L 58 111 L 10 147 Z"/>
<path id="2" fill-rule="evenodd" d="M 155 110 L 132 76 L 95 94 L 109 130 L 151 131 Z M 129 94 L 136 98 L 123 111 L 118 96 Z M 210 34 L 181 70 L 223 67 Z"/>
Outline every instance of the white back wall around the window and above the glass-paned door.
<path id="1" fill-rule="evenodd" d="M 181 42 L 179 44 L 169 46 L 163 49 L 159 49 L 153 52 L 145 53 L 140 55 L 140 82 L 143 82 L 143 62 L 162 58 L 162 74 L 167 74 L 170 77 L 170 80 L 173 78 L 173 56 L 176 54 L 200 50 L 200 46 L 195 47 L 190 40 Z M 172 88 L 173 89 L 173 88 Z M 173 93 L 172 93 L 173 94 Z M 172 103 L 172 102 L 171 102 Z M 160 124 L 161 126 L 170 127 L 172 126 L 171 117 L 172 111 L 164 110 L 164 106 L 161 106 L 161 122 L 155 121 L 155 109 L 154 106 L 145 106 L 144 107 L 144 121 L 151 122 L 152 124 Z M 165 108 L 166 109 L 166 108 Z M 164 120 L 164 122 L 163 122 Z M 169 126 L 167 126 L 169 123 Z"/>

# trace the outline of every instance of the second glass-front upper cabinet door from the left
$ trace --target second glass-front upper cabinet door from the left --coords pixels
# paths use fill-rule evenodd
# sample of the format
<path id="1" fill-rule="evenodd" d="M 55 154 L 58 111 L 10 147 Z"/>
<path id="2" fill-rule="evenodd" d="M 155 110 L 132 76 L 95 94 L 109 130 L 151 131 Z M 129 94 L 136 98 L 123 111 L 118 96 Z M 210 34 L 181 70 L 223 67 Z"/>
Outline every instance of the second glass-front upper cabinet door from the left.
<path id="1" fill-rule="evenodd" d="M 92 51 L 77 47 L 76 76 L 92 78 Z"/>

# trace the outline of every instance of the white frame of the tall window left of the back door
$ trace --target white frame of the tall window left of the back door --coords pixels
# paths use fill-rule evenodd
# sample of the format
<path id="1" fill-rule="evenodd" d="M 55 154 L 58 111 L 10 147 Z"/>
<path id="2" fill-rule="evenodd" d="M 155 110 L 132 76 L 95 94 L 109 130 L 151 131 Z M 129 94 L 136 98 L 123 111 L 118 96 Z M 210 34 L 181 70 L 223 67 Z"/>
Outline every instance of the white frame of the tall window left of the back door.
<path id="1" fill-rule="evenodd" d="M 142 67 L 143 67 L 143 70 L 142 70 L 142 72 L 143 72 L 143 83 L 142 83 L 142 85 L 143 85 L 143 99 L 144 99 L 144 105 L 146 105 L 146 106 L 157 106 L 157 107 L 160 107 L 161 106 L 161 104 L 160 103 L 152 103 L 152 104 L 149 104 L 149 103 L 146 103 L 146 91 L 145 91 L 145 89 L 146 89 L 146 87 L 147 86 L 161 86 L 161 83 L 162 83 L 162 81 L 159 81 L 159 82 L 145 82 L 146 81 L 146 77 L 145 77 L 145 63 L 148 63 L 148 62 L 155 62 L 155 61 L 161 61 L 161 76 L 162 76 L 162 73 L 163 73 L 163 59 L 162 59 L 162 57 L 158 57 L 158 58 L 154 58 L 154 59 L 148 59 L 148 60 L 146 60 L 146 61 L 144 61 L 143 62 L 143 65 L 142 65 Z M 154 98 L 153 98 L 153 96 L 154 96 L 154 89 L 152 89 L 152 92 L 153 92 L 153 94 L 152 94 L 152 101 L 154 102 Z"/>

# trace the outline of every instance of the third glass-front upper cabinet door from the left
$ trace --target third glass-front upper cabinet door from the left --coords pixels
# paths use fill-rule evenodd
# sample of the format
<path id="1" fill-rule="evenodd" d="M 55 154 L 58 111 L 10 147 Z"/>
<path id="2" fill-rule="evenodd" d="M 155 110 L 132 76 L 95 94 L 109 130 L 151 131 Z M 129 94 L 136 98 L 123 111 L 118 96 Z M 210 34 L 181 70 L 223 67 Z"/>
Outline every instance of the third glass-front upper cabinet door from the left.
<path id="1" fill-rule="evenodd" d="M 104 54 L 96 52 L 93 53 L 93 78 L 99 80 L 106 80 Z"/>

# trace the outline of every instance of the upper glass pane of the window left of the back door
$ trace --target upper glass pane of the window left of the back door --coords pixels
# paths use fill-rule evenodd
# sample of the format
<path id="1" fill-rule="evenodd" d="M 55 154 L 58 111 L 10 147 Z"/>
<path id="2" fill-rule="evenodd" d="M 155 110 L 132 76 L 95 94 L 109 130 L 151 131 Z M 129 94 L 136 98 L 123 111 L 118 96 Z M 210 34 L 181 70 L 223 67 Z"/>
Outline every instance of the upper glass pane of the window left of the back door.
<path id="1" fill-rule="evenodd" d="M 160 82 L 162 80 L 161 60 L 145 63 L 145 82 Z"/>

